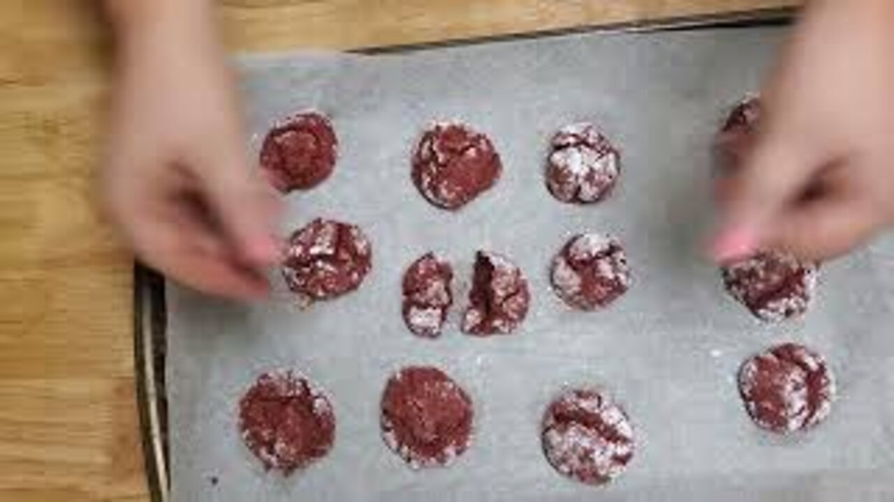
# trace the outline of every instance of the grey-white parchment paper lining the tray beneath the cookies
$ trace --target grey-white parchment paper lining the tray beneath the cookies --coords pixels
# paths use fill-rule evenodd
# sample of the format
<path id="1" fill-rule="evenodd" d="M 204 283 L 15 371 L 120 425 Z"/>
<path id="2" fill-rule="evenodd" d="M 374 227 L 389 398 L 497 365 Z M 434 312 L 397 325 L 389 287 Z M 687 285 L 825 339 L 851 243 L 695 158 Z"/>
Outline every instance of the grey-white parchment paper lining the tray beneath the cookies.
<path id="1" fill-rule="evenodd" d="M 894 495 L 894 242 L 828 264 L 803 322 L 757 322 L 702 258 L 710 224 L 709 146 L 723 113 L 757 88 L 784 29 L 586 34 L 358 56 L 240 61 L 257 146 L 270 124 L 316 108 L 341 157 L 330 180 L 287 198 L 283 233 L 316 216 L 358 223 L 374 270 L 356 293 L 301 311 L 273 271 L 273 300 L 243 305 L 168 286 L 172 495 L 175 501 L 887 500 Z M 457 213 L 428 205 L 409 154 L 435 119 L 493 138 L 504 172 Z M 590 120 L 623 150 L 610 200 L 552 199 L 543 163 L 552 132 Z M 572 312 L 549 289 L 570 235 L 607 231 L 635 283 L 610 309 Z M 433 249 L 459 268 L 460 306 L 479 248 L 509 255 L 530 281 L 527 321 L 476 339 L 403 326 L 404 268 Z M 771 437 L 742 409 L 738 365 L 784 340 L 821 351 L 839 401 L 806 436 Z M 379 435 L 379 397 L 405 364 L 443 367 L 476 405 L 472 448 L 447 469 L 413 472 Z M 328 390 L 338 420 L 329 456 L 290 478 L 265 473 L 237 431 L 257 374 L 291 367 Z M 544 407 L 569 385 L 606 389 L 628 410 L 637 454 L 593 488 L 555 473 L 540 449 Z"/>

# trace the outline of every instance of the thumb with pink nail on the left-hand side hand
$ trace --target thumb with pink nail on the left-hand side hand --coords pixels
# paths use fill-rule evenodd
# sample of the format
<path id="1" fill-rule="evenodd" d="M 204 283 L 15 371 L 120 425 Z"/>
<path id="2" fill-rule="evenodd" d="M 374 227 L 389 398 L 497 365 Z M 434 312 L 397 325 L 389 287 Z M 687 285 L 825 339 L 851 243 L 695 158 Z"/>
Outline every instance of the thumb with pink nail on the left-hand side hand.
<path id="1" fill-rule="evenodd" d="M 242 155 L 215 155 L 202 165 L 208 205 L 224 238 L 247 264 L 275 264 L 281 249 L 275 238 L 280 200 Z"/>

